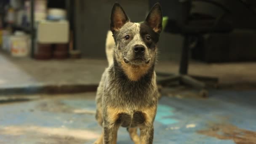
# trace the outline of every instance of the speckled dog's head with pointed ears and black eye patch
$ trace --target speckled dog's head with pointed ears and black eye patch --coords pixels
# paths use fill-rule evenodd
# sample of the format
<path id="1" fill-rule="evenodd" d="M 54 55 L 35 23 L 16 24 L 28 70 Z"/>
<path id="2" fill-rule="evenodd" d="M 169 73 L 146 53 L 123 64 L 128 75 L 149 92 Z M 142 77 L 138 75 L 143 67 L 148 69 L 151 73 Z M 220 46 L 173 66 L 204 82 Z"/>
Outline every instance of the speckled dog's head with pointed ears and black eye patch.
<path id="1" fill-rule="evenodd" d="M 162 20 L 159 3 L 154 5 L 141 24 L 130 22 L 123 8 L 115 3 L 111 13 L 110 29 L 116 43 L 116 60 L 134 66 L 155 62 Z"/>

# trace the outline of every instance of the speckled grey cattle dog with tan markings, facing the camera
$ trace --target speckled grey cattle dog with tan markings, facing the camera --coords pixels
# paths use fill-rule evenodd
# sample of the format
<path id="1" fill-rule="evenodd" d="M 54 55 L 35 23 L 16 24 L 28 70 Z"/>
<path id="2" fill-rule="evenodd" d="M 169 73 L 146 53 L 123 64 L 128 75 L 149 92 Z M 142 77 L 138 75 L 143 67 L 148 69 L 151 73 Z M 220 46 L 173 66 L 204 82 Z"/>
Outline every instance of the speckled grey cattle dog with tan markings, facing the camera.
<path id="1" fill-rule="evenodd" d="M 115 3 L 110 20 L 106 42 L 109 66 L 96 93 L 96 120 L 103 131 L 94 144 L 116 144 L 120 126 L 127 128 L 135 144 L 152 144 L 158 103 L 154 69 L 162 31 L 161 6 L 156 3 L 143 23 L 133 23 Z"/>

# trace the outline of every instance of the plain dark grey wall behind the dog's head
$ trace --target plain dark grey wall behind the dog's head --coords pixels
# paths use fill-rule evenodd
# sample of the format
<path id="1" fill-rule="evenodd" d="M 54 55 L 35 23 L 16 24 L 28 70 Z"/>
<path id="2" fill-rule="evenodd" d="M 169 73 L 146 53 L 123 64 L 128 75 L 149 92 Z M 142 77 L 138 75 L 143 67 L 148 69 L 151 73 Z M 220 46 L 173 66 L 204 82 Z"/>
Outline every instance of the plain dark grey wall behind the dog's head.
<path id="1" fill-rule="evenodd" d="M 110 12 L 117 0 L 75 0 L 76 45 L 86 58 L 106 59 L 105 39 L 109 29 Z M 148 0 L 119 0 L 131 21 L 143 21 Z M 159 43 L 160 59 L 179 56 L 182 37 L 162 33 Z M 178 55 L 177 55 L 178 53 Z"/>

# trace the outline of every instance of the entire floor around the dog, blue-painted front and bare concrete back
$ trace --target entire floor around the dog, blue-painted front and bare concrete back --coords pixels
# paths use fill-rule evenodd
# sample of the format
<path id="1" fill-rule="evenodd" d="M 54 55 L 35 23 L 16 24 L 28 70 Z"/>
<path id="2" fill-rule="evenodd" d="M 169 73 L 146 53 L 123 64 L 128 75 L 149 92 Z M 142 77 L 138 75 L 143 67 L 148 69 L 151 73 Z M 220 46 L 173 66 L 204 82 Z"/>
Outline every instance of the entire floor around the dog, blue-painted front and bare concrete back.
<path id="1" fill-rule="evenodd" d="M 27 94 L 88 91 L 94 86 L 92 90 L 106 60 L 36 61 L 0 53 L 0 66 L 0 144 L 91 144 L 99 137 L 95 93 Z M 160 72 L 178 68 L 175 61 L 159 61 L 156 66 Z M 223 89 L 211 90 L 206 99 L 184 89 L 165 91 L 155 119 L 154 144 L 256 144 L 255 72 L 255 63 L 191 62 L 190 74 L 219 77 Z M 118 144 L 130 143 L 121 128 Z"/>

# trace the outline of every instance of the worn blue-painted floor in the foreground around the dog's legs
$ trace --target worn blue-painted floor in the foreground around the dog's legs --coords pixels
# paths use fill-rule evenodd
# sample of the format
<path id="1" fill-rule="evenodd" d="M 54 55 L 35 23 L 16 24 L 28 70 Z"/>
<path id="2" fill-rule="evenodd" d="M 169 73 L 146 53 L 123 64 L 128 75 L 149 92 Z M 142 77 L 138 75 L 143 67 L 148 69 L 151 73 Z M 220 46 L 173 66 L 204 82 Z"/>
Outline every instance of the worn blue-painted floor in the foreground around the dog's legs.
<path id="1" fill-rule="evenodd" d="M 0 144 L 91 144 L 101 128 L 95 93 L 0 104 Z M 211 91 L 208 99 L 165 97 L 154 144 L 256 144 L 256 91 Z M 132 144 L 120 128 L 117 144 Z"/>

